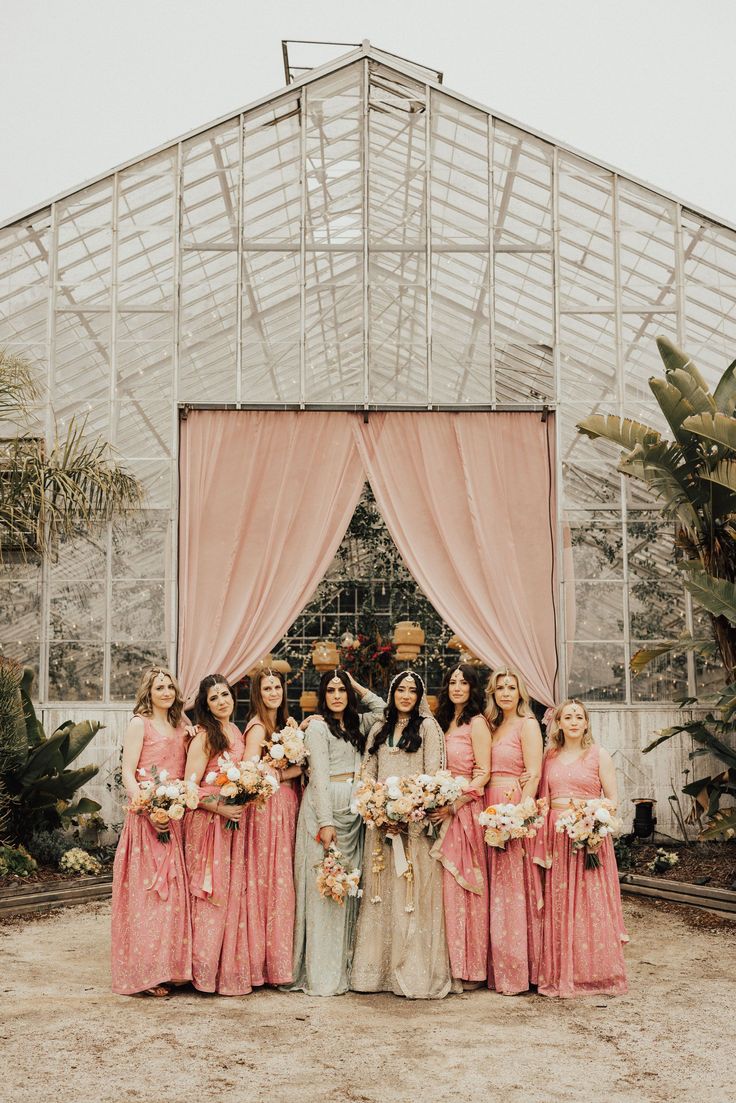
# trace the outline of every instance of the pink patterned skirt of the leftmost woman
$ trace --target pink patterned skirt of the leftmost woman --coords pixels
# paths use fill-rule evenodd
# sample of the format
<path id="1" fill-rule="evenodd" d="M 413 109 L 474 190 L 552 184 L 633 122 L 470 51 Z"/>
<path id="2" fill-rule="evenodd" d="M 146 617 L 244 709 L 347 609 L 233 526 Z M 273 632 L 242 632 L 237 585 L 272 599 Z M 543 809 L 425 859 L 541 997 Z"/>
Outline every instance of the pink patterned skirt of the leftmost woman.
<path id="1" fill-rule="evenodd" d="M 113 866 L 113 992 L 130 996 L 192 977 L 189 890 L 181 823 L 161 843 L 128 813 Z"/>

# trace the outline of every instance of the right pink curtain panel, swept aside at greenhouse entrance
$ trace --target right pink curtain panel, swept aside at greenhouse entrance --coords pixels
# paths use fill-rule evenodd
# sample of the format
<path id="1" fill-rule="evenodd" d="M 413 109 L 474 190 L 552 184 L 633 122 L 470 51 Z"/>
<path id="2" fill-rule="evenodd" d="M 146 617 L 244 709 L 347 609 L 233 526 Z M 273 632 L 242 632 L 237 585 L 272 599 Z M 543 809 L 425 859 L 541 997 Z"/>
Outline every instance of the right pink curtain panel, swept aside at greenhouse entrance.
<path id="1" fill-rule="evenodd" d="M 557 666 L 548 430 L 538 414 L 353 422 L 381 513 L 427 598 L 479 658 L 515 666 L 547 705 Z"/>

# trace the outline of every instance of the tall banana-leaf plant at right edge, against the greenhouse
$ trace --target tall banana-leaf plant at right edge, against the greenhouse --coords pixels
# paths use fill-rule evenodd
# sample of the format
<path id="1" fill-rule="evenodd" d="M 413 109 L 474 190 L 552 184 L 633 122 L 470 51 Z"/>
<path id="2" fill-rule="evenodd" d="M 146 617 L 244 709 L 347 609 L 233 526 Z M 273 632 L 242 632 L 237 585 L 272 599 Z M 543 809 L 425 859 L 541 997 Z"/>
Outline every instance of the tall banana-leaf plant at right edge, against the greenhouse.
<path id="1" fill-rule="evenodd" d="M 711 753 L 723 762 L 722 772 L 691 782 L 683 792 L 692 796 L 696 817 L 708 817 L 701 837 L 730 838 L 736 807 L 719 810 L 719 803 L 724 796 L 736 797 L 736 361 L 711 393 L 690 356 L 666 338 L 658 338 L 657 345 L 664 378 L 652 377 L 649 386 L 672 438 L 614 415 L 591 415 L 577 429 L 591 440 L 619 445 L 618 470 L 643 482 L 674 521 L 684 586 L 708 613 L 713 635 L 684 634 L 643 647 L 632 656 L 631 670 L 638 674 L 671 651 L 719 654 L 727 685 L 713 711 L 660 731 L 644 753 L 685 735 L 697 745 L 691 759 Z"/>

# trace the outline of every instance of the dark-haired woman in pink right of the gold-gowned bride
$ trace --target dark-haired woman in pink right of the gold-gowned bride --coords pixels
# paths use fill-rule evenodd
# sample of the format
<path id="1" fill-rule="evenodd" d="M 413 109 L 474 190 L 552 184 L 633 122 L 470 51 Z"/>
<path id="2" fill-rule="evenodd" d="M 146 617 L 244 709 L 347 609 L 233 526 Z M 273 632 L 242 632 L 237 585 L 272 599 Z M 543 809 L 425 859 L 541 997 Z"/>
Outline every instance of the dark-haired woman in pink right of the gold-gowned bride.
<path id="1" fill-rule="evenodd" d="M 454 806 L 430 815 L 446 824 L 431 849 L 444 869 L 445 930 L 452 987 L 477 988 L 488 975 L 488 863 L 483 828 L 483 789 L 491 775 L 491 733 L 483 717 L 478 671 L 460 663 L 445 678 L 436 719 L 445 732 L 447 769 L 467 778 L 467 793 Z"/>

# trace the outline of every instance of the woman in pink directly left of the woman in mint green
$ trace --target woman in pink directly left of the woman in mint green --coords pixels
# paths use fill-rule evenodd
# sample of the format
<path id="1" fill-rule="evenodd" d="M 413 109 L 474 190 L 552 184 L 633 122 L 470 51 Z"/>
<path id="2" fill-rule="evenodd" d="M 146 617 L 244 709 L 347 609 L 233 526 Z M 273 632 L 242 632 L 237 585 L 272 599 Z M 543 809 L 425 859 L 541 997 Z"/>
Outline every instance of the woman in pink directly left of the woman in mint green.
<path id="1" fill-rule="evenodd" d="M 286 679 L 265 670 L 250 681 L 250 718 L 245 728 L 245 758 L 260 758 L 264 742 L 289 721 Z M 263 807 L 245 817 L 248 950 L 254 985 L 291 984 L 294 955 L 294 846 L 301 767 L 275 770 L 278 790 Z"/>

